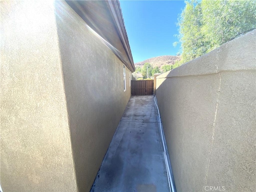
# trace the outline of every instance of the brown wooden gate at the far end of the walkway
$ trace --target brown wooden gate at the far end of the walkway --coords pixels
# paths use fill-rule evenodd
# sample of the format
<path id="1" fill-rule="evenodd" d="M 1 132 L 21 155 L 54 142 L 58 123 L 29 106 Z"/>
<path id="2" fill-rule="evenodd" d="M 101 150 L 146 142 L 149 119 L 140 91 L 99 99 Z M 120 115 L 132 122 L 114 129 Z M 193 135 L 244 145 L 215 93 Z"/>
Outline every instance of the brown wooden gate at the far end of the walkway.
<path id="1" fill-rule="evenodd" d="M 154 80 L 132 80 L 132 95 L 152 95 Z"/>

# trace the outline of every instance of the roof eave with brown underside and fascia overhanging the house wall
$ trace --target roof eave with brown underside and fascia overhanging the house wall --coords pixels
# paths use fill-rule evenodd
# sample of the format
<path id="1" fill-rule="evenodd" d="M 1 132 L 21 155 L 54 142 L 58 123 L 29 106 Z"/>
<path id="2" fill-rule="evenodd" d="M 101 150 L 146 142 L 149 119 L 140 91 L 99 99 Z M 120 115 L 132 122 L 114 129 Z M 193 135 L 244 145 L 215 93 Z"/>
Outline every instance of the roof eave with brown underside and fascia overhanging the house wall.
<path id="1" fill-rule="evenodd" d="M 108 47 L 127 68 L 134 72 L 135 66 L 120 2 L 118 0 L 66 0 L 66 2 L 90 28 L 106 40 Z"/>

